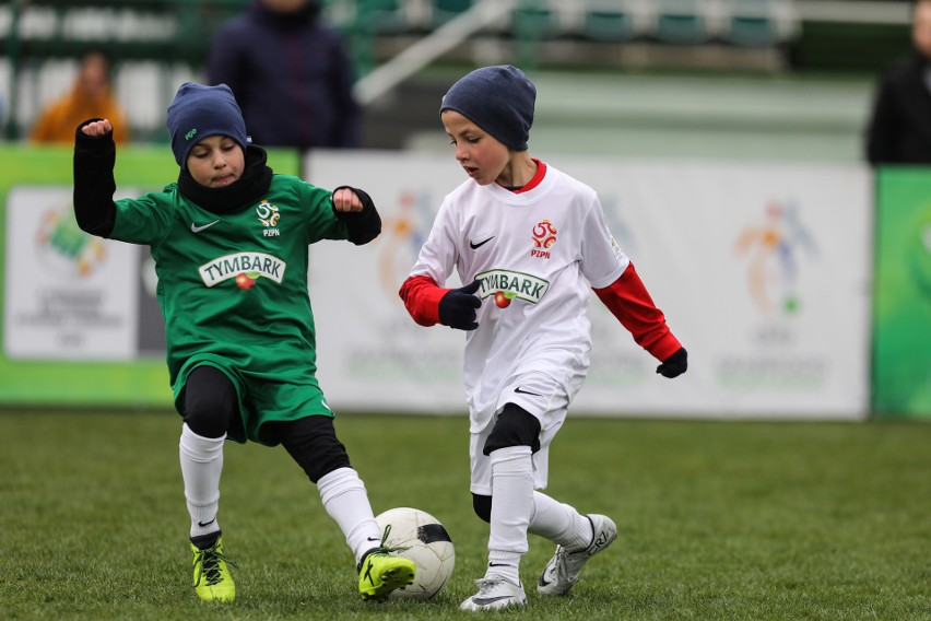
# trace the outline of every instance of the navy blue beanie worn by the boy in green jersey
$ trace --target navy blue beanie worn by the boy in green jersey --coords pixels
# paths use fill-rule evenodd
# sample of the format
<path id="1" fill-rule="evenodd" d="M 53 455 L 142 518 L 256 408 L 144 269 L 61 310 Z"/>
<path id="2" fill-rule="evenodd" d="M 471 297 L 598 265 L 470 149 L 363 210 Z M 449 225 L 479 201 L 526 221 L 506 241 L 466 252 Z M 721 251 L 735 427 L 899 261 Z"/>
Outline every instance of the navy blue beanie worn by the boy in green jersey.
<path id="1" fill-rule="evenodd" d="M 243 112 L 226 84 L 181 84 L 168 106 L 168 133 L 172 153 L 181 168 L 193 145 L 208 136 L 228 136 L 239 143 L 244 152 L 249 143 Z"/>

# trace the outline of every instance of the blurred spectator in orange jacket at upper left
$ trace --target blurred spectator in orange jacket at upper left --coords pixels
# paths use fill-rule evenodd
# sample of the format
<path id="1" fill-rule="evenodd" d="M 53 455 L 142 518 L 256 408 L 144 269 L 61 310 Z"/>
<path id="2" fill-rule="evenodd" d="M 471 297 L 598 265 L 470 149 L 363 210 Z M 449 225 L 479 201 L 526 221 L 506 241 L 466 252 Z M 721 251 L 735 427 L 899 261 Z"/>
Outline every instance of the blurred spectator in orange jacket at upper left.
<path id="1" fill-rule="evenodd" d="M 110 62 L 101 51 L 81 57 L 74 85 L 39 113 L 30 140 L 74 144 L 74 128 L 89 118 L 110 119 L 114 140 L 129 142 L 126 115 L 110 89 Z"/>

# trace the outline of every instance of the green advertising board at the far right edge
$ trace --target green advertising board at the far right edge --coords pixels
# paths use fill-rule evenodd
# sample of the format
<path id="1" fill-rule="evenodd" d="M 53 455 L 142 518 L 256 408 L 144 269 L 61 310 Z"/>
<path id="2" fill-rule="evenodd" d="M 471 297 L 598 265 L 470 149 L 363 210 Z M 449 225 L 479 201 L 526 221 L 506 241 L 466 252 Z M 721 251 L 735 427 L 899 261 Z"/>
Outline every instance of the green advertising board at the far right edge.
<path id="1" fill-rule="evenodd" d="M 931 419 L 931 171 L 876 184 L 873 412 Z"/>

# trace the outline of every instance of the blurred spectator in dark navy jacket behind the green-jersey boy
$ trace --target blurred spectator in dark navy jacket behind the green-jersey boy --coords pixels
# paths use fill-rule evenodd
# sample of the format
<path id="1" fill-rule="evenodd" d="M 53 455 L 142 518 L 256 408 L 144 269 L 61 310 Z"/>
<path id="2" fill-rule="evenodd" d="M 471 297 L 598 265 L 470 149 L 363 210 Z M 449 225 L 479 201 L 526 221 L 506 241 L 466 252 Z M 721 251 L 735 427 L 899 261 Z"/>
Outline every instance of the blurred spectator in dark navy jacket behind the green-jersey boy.
<path id="1" fill-rule="evenodd" d="M 258 144 L 358 147 L 352 62 L 319 14 L 317 0 L 252 0 L 212 43 L 208 82 L 233 90 Z"/>

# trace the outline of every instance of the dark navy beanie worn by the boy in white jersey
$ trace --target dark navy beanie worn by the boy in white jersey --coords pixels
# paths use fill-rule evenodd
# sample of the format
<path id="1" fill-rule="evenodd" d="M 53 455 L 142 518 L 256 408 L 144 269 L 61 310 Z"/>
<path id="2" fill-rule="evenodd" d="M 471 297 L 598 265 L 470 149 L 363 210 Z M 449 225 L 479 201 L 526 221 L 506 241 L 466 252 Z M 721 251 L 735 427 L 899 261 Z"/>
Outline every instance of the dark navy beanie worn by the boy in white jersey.
<path id="1" fill-rule="evenodd" d="M 537 87 L 510 65 L 482 67 L 457 81 L 439 107 L 455 110 L 515 151 L 526 151 Z"/>

